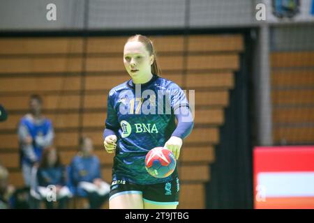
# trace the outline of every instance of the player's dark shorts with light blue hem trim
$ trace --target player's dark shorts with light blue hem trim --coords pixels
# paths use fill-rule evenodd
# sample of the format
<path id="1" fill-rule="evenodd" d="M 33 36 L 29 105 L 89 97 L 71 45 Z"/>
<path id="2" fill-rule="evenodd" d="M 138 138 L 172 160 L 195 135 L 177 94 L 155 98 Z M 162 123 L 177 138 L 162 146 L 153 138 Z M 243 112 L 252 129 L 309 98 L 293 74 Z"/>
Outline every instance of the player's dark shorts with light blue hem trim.
<path id="1" fill-rule="evenodd" d="M 179 178 L 165 183 L 139 185 L 128 180 L 113 180 L 110 187 L 110 199 L 122 194 L 142 194 L 147 203 L 159 205 L 179 204 Z"/>

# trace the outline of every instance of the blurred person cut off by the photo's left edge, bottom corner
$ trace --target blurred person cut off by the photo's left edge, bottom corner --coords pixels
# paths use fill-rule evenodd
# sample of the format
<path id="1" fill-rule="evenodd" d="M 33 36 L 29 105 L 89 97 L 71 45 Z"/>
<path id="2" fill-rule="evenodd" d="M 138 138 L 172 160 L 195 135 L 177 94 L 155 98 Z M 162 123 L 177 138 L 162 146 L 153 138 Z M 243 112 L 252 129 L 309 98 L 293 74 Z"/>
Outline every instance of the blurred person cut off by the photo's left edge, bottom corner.
<path id="1" fill-rule="evenodd" d="M 8 184 L 8 170 L 0 165 L 0 209 L 12 208 L 13 185 Z"/>

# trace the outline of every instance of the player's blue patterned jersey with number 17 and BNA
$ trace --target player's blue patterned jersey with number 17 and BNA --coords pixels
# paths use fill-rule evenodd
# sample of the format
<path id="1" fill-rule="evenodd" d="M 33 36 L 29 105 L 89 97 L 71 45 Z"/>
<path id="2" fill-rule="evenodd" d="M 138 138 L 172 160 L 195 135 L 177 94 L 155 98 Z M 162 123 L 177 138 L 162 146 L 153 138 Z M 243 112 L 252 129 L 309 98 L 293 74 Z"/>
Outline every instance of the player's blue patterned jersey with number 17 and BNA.
<path id="1" fill-rule="evenodd" d="M 130 79 L 110 91 L 105 128 L 118 137 L 112 180 L 155 184 L 177 176 L 177 169 L 167 178 L 150 176 L 144 159 L 152 148 L 164 146 L 170 139 L 177 126 L 175 113 L 179 107 L 188 107 L 184 91 L 156 75 L 145 84 L 133 84 Z"/>

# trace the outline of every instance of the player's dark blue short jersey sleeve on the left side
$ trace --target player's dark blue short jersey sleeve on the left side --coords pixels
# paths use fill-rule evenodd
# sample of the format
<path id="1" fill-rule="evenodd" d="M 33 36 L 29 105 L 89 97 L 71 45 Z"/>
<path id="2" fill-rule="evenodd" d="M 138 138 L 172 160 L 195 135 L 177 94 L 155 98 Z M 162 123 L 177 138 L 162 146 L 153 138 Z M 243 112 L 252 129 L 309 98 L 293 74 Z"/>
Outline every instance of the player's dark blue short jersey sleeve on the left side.
<path id="1" fill-rule="evenodd" d="M 107 97 L 107 118 L 105 121 L 105 128 L 117 131 L 119 130 L 119 121 L 117 112 L 114 109 L 114 97 L 112 91 L 110 91 Z"/>

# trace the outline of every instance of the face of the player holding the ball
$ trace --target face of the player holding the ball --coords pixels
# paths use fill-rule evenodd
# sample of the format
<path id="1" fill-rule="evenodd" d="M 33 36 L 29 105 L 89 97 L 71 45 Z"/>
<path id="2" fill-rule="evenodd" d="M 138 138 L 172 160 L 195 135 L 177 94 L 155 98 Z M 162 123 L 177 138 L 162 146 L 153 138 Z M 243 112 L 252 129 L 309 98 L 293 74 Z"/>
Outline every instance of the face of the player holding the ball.
<path id="1" fill-rule="evenodd" d="M 144 44 L 130 41 L 124 46 L 124 66 L 132 78 L 150 75 L 153 62 L 154 56 L 149 55 Z"/>

